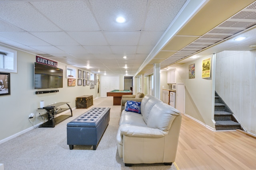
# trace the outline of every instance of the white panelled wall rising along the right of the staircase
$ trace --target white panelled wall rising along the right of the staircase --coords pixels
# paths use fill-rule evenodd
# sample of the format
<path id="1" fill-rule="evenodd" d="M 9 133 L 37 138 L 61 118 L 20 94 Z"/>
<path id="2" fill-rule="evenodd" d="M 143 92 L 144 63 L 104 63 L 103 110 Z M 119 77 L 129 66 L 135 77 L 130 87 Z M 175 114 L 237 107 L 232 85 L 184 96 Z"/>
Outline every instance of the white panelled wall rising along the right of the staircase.
<path id="1" fill-rule="evenodd" d="M 256 50 L 216 54 L 215 90 L 245 129 L 256 134 Z"/>

